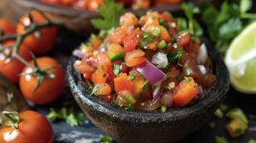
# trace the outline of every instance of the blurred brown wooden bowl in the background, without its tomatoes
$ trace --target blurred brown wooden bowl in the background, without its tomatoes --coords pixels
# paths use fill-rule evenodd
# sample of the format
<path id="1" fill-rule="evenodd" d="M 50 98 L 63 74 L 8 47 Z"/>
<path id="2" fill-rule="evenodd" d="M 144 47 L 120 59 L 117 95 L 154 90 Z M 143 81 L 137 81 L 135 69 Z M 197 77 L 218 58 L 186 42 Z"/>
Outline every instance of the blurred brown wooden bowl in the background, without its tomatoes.
<path id="1" fill-rule="evenodd" d="M 200 5 L 205 1 L 211 0 L 191 0 L 196 5 Z M 217 0 L 220 1 L 220 0 Z M 217 1 L 213 1 L 217 3 Z M 9 19 L 14 24 L 19 20 L 23 14 L 31 11 L 32 9 L 38 9 L 42 11 L 51 21 L 57 24 L 62 24 L 67 29 L 75 31 L 80 35 L 89 35 L 93 29 L 90 19 L 99 16 L 97 12 L 87 10 L 77 10 L 64 6 L 55 6 L 52 4 L 44 4 L 40 0 L 1 0 L 0 1 L 0 16 Z M 156 11 L 170 11 L 177 13 L 181 11 L 181 4 L 173 4 L 169 6 L 155 6 L 150 9 Z M 135 14 L 148 11 L 125 9 L 126 11 L 132 11 Z"/>

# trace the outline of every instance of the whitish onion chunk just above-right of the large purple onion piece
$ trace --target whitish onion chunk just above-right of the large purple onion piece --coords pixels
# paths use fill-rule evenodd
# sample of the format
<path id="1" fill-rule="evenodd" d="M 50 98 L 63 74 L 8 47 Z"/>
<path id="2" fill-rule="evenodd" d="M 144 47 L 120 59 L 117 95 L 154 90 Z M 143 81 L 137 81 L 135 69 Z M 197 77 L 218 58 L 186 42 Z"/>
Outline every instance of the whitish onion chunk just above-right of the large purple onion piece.
<path id="1" fill-rule="evenodd" d="M 154 54 L 152 57 L 152 63 L 156 64 L 158 68 L 165 68 L 168 66 L 167 55 L 161 52 Z"/>

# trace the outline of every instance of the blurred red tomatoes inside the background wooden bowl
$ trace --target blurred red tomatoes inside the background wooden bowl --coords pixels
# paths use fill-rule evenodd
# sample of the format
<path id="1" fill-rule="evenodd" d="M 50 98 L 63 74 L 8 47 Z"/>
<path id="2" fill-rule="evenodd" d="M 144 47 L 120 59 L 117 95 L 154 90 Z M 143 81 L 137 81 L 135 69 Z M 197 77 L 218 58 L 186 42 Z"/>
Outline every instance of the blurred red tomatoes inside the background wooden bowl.
<path id="1" fill-rule="evenodd" d="M 73 7 L 74 9 L 87 9 L 89 11 L 98 11 L 103 0 L 41 0 L 44 3 Z M 115 0 L 122 2 L 126 7 L 132 9 L 148 9 L 150 6 L 161 6 L 166 4 L 179 4 L 182 0 Z"/>

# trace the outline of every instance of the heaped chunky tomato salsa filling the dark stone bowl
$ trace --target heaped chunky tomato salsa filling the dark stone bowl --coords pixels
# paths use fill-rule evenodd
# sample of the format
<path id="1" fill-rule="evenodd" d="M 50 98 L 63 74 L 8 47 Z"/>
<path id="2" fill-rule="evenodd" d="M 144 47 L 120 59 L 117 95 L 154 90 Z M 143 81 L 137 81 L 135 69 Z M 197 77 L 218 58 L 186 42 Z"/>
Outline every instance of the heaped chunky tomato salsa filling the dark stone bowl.
<path id="1" fill-rule="evenodd" d="M 120 17 L 115 29 L 93 34 L 74 54 L 74 67 L 93 84 L 90 96 L 125 109 L 165 111 L 204 98 L 216 76 L 200 39 L 169 12 Z"/>

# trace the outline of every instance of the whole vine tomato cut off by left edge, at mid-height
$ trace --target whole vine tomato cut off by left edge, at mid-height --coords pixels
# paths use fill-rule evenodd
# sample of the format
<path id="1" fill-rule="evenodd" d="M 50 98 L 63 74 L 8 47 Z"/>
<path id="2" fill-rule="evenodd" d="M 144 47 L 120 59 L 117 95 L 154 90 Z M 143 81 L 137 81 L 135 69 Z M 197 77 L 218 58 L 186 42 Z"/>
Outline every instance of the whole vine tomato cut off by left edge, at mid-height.
<path id="1" fill-rule="evenodd" d="M 4 42 L 3 46 L 13 46 L 15 44 L 15 41 L 6 41 Z M 29 50 L 25 46 L 19 47 L 19 56 L 22 56 L 26 61 L 29 61 L 31 59 L 31 56 L 29 54 Z M 8 79 L 11 80 L 11 82 L 19 82 L 19 74 L 21 74 L 22 69 L 24 68 L 24 64 L 19 61 L 18 59 L 11 59 L 10 56 L 5 56 L 4 53 L 0 53 L 0 72 L 1 74 L 4 74 Z"/>

